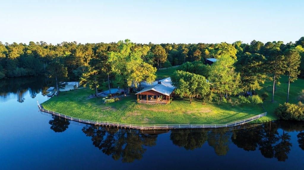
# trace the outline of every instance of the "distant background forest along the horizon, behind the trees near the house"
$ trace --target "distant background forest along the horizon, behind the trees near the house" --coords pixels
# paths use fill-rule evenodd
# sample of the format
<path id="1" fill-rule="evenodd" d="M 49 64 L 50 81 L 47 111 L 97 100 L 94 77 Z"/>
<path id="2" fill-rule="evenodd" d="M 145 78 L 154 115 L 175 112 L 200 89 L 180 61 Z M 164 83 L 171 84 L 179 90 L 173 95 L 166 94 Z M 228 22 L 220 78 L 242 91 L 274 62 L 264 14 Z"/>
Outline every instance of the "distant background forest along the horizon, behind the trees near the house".
<path id="1" fill-rule="evenodd" d="M 180 65 L 187 61 L 204 61 L 206 58 L 217 58 L 222 54 L 229 54 L 237 60 L 251 54 L 269 57 L 275 49 L 278 53 L 284 53 L 287 49 L 294 48 L 302 56 L 300 70 L 304 70 L 304 37 L 295 43 L 287 44 L 282 41 L 264 44 L 255 40 L 250 44 L 244 44 L 242 41 L 233 44 L 134 44 L 131 50 L 135 51 L 140 47 L 146 50 L 141 56 L 142 59 L 157 68 L 166 67 L 168 64 Z M 106 61 L 109 52 L 118 50 L 118 43 L 78 44 L 74 41 L 53 45 L 43 41 L 31 41 L 27 45 L 3 44 L 0 41 L 0 79 L 46 74 L 48 64 L 59 61 L 67 67 L 70 80 L 79 80 L 91 59 Z M 237 64 L 236 62 L 235 65 Z M 304 71 L 301 71 L 300 77 L 304 77 Z"/>

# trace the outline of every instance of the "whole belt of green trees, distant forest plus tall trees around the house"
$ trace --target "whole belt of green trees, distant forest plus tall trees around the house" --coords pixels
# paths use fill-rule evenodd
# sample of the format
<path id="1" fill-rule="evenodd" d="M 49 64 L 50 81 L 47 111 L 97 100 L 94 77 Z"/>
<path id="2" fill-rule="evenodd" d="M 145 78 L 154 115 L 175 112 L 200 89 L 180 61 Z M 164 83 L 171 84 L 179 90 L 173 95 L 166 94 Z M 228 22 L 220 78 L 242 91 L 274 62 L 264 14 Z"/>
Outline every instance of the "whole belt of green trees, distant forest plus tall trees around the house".
<path id="1" fill-rule="evenodd" d="M 293 81 L 304 78 L 304 37 L 295 43 L 282 41 L 250 44 L 136 44 L 130 40 L 117 43 L 78 44 L 46 42 L 2 44 L 0 42 L 0 79 L 44 75 L 60 80 L 80 80 L 92 89 L 108 79 L 122 87 L 142 80 L 153 81 L 155 71 L 163 67 L 183 66 L 179 70 L 210 79 L 220 98 L 261 89 L 264 81 L 279 83 L 281 75 Z M 220 62 L 211 68 L 202 66 L 206 58 Z M 301 61 L 301 62 L 300 62 Z M 192 70 L 191 70 L 192 69 Z M 64 72 L 64 73 L 62 73 Z M 139 76 L 142 75 L 142 76 Z"/>

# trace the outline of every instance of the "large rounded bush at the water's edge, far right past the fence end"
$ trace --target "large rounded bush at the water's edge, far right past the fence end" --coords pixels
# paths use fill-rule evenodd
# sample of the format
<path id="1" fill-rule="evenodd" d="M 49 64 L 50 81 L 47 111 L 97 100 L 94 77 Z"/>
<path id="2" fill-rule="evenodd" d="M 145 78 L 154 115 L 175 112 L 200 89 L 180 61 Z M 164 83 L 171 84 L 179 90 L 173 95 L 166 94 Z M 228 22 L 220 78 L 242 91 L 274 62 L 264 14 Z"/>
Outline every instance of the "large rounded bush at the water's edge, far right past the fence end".
<path id="1" fill-rule="evenodd" d="M 304 120 L 303 108 L 296 104 L 280 104 L 275 110 L 275 114 L 283 120 Z"/>

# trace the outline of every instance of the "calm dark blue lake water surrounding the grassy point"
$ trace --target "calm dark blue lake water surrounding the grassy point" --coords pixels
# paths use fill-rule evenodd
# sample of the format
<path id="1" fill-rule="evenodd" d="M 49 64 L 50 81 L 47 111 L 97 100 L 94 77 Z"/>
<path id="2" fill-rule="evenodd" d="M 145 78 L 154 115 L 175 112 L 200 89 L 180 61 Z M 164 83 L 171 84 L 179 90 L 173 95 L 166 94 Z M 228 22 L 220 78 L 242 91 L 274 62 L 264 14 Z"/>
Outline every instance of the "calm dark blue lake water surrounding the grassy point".
<path id="1" fill-rule="evenodd" d="M 303 169 L 304 123 L 145 132 L 38 112 L 46 81 L 0 80 L 0 169 Z"/>

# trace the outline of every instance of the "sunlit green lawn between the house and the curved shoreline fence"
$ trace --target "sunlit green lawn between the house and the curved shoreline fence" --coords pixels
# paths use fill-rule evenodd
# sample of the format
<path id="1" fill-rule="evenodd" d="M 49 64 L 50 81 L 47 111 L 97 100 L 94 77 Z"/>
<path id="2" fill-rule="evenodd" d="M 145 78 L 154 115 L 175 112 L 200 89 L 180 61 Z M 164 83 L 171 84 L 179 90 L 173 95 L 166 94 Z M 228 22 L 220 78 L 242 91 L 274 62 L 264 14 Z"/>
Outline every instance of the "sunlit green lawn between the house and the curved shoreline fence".
<path id="1" fill-rule="evenodd" d="M 89 98 L 94 93 L 89 88 L 61 92 L 42 106 L 60 114 L 81 119 L 111 121 L 137 125 L 145 124 L 226 124 L 246 119 L 264 110 L 252 104 L 231 106 L 230 103 L 211 102 L 202 104 L 194 99 L 174 98 L 168 105 L 137 103 L 137 96 L 122 97 L 114 103 L 104 103 L 102 97 Z M 215 94 L 217 95 L 217 94 Z"/>

